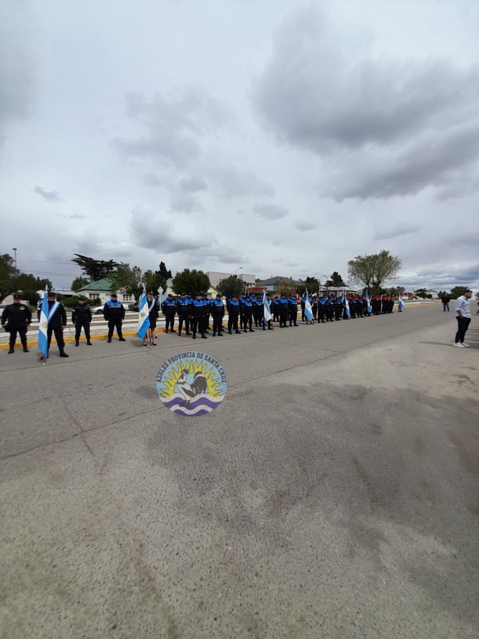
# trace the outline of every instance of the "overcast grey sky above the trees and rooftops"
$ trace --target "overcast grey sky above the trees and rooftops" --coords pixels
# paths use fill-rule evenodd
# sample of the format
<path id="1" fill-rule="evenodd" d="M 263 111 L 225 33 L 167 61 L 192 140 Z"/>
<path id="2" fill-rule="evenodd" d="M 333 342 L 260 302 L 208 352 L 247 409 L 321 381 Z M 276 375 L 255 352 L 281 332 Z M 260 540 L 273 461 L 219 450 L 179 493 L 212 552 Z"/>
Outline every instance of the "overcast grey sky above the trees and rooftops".
<path id="1" fill-rule="evenodd" d="M 0 12 L 0 252 L 20 265 L 346 279 L 384 248 L 408 289 L 479 289 L 477 0 Z"/>

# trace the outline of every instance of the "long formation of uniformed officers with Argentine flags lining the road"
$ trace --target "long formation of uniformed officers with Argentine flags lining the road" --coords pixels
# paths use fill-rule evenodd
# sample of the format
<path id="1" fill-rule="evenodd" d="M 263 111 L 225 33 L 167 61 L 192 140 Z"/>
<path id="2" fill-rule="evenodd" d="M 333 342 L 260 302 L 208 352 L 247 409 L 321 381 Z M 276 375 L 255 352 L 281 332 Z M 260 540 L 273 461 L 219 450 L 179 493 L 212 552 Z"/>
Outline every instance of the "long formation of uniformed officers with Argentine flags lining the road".
<path id="1" fill-rule="evenodd" d="M 208 298 L 198 293 L 188 296 L 185 293 L 176 299 L 169 294 L 160 304 L 156 300 L 153 291 L 146 293 L 149 316 L 149 341 L 156 346 L 156 325 L 160 317 L 160 310 L 165 317 L 166 334 L 176 333 L 181 336 L 190 335 L 192 339 L 208 339 L 208 334 L 213 331 L 212 337 L 222 337 L 227 331 L 229 335 L 241 332 L 254 332 L 255 329 L 274 330 L 273 323 L 278 323 L 279 328 L 297 327 L 298 316 L 307 324 L 326 323 L 340 321 L 341 319 L 356 319 L 369 317 L 370 315 L 388 314 L 393 312 L 394 300 L 391 296 L 374 296 L 368 300 L 365 295 L 349 295 L 347 297 L 312 296 L 310 299 L 312 317 L 308 318 L 305 298 L 296 295 L 286 295 L 271 298 L 266 293 L 268 305 L 266 315 L 271 319 L 265 319 L 263 295 L 254 293 L 242 294 L 239 297 L 231 295 L 224 301 L 220 293 L 215 298 Z M 65 353 L 65 340 L 63 331 L 67 326 L 65 307 L 57 302 L 53 291 L 47 293 L 47 309 L 45 309 L 47 321 L 45 323 L 47 333 L 47 354 L 49 355 L 52 335 L 55 336 L 60 357 L 68 357 Z M 227 327 L 223 325 L 225 314 L 228 314 Z M 42 313 L 42 300 L 38 304 L 38 321 Z M 112 293 L 103 307 L 103 318 L 108 324 L 107 342 L 111 343 L 114 332 L 118 340 L 126 341 L 123 337 L 122 324 L 125 319 L 125 305 L 118 301 L 118 296 Z M 8 305 L 2 314 L 1 323 L 10 332 L 9 354 L 15 352 L 17 334 L 24 352 L 27 348 L 27 330 L 31 325 L 32 314 L 29 306 L 22 304 L 20 294 L 13 295 L 13 304 Z M 178 330 L 175 328 L 178 320 Z M 72 323 L 75 325 L 75 346 L 79 346 L 82 331 L 86 337 L 87 346 L 92 346 L 90 325 L 92 314 L 84 297 L 79 296 L 78 303 L 72 311 Z M 253 328 L 254 327 L 254 328 Z M 143 345 L 147 346 L 147 336 L 143 337 Z"/>

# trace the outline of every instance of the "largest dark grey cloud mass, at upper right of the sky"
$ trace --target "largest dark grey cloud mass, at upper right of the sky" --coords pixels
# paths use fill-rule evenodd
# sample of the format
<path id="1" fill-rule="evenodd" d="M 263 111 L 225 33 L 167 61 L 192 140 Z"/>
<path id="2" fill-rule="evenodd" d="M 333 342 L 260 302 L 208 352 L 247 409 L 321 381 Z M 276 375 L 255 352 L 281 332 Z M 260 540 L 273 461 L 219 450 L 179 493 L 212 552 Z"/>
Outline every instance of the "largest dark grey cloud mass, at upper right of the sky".
<path id="1" fill-rule="evenodd" d="M 278 33 L 254 104 L 280 141 L 330 158 L 337 201 L 444 187 L 477 162 L 479 66 L 356 59 L 312 5 Z"/>

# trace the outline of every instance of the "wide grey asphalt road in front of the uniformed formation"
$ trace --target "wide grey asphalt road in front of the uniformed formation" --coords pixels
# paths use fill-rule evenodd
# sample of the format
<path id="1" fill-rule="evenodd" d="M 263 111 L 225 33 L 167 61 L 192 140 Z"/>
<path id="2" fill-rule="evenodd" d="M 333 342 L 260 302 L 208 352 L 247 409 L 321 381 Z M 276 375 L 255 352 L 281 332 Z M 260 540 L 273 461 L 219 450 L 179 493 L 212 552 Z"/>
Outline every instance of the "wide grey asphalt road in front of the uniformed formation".
<path id="1" fill-rule="evenodd" d="M 479 317 L 0 351 L 0 637 L 479 636 Z M 222 405 L 156 373 L 195 344 Z"/>

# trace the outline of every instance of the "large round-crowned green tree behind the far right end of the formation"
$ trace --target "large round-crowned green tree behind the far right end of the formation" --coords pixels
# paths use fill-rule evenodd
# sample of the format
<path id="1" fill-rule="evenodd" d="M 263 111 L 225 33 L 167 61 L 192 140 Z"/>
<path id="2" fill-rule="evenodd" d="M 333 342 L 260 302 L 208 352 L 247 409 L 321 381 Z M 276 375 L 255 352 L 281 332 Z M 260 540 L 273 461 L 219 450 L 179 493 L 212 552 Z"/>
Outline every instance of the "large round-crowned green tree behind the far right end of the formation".
<path id="1" fill-rule="evenodd" d="M 349 281 L 365 286 L 377 293 L 384 282 L 396 279 L 399 275 L 402 261 L 393 256 L 388 250 L 373 255 L 358 255 L 347 263 L 347 277 Z"/>

